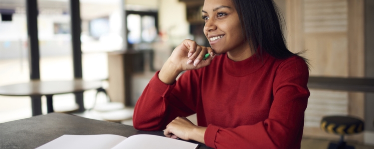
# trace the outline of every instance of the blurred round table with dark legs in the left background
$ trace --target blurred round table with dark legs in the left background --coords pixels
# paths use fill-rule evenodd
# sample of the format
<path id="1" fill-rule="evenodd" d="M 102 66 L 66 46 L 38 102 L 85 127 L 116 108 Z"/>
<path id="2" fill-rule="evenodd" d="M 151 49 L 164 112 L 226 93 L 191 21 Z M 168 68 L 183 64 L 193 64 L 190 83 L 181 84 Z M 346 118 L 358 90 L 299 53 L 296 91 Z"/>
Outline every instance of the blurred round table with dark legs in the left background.
<path id="1" fill-rule="evenodd" d="M 85 81 L 82 79 L 63 81 L 40 81 L 31 80 L 26 83 L 10 84 L 0 86 L 0 95 L 5 96 L 30 96 L 32 116 L 41 113 L 41 96 L 47 98 L 47 112 L 53 112 L 52 96 L 55 94 L 81 93 L 85 90 L 98 89 L 102 87 L 101 81 Z M 76 98 L 79 99 L 79 98 Z M 84 111 L 83 97 L 76 100 L 79 111 Z"/>

